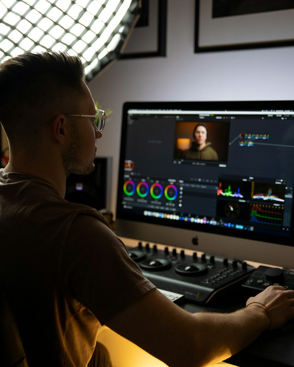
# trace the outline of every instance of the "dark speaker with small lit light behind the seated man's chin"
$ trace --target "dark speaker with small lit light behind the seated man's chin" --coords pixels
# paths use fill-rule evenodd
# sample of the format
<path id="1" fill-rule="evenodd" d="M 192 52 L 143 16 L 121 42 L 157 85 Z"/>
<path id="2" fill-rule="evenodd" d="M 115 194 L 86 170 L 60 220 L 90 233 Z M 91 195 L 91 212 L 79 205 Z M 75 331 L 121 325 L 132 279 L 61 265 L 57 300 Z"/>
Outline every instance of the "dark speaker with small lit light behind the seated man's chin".
<path id="1" fill-rule="evenodd" d="M 94 159 L 90 175 L 71 174 L 67 178 L 65 200 L 90 206 L 97 210 L 110 209 L 111 157 Z"/>

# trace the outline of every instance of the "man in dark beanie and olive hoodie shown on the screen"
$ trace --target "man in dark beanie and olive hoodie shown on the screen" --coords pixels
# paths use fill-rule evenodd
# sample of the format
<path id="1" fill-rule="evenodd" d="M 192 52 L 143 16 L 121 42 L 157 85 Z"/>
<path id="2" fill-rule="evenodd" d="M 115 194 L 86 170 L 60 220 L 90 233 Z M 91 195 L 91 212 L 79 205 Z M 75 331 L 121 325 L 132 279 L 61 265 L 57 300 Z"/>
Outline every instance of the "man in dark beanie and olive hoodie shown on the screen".
<path id="1" fill-rule="evenodd" d="M 190 149 L 183 154 L 185 159 L 219 160 L 218 153 L 207 143 L 208 131 L 204 124 L 198 124 L 193 131 L 194 141 Z"/>

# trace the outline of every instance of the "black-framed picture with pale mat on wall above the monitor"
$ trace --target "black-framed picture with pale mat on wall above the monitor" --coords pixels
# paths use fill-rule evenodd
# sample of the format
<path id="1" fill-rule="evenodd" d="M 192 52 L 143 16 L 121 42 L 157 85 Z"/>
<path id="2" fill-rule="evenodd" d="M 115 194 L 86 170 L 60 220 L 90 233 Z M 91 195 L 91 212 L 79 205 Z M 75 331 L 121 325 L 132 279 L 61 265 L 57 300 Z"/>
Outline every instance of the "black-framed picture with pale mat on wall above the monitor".
<path id="1" fill-rule="evenodd" d="M 294 0 L 196 0 L 195 52 L 294 45 Z"/>

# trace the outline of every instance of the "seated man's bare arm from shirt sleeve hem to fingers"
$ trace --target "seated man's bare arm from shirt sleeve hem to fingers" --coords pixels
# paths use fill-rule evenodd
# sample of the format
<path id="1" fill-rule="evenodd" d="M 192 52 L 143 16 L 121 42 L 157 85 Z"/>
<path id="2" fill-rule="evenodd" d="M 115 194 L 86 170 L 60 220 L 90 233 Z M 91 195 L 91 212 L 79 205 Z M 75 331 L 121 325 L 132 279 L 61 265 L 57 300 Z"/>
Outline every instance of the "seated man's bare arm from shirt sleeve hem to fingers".
<path id="1" fill-rule="evenodd" d="M 294 291 L 268 287 L 234 313 L 190 314 L 151 290 L 116 315 L 107 326 L 170 367 L 207 366 L 239 352 L 269 327 L 294 317 Z"/>

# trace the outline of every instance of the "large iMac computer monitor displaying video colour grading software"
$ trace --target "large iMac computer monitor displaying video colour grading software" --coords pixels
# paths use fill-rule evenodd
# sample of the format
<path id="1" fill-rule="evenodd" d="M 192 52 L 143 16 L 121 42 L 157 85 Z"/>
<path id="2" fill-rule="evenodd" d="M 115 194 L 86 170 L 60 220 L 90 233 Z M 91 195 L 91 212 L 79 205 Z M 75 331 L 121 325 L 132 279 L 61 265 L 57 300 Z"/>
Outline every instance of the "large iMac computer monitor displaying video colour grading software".
<path id="1" fill-rule="evenodd" d="M 126 102 L 116 234 L 293 268 L 294 102 Z"/>

